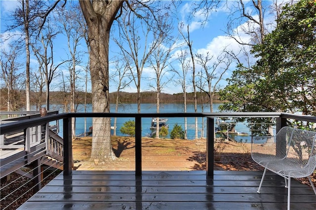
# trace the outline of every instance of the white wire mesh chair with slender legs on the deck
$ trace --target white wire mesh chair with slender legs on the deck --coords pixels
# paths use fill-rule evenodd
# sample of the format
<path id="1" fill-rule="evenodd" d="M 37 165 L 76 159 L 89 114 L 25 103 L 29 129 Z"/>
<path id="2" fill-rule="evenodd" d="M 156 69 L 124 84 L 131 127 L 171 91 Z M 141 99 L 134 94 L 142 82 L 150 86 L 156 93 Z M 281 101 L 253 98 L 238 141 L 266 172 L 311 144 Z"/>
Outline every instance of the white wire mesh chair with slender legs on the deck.
<path id="1" fill-rule="evenodd" d="M 283 127 L 275 137 L 255 137 L 251 142 L 251 157 L 265 168 L 258 193 L 267 170 L 284 177 L 287 187 L 287 209 L 290 209 L 291 178 L 308 177 L 316 168 L 316 132 Z"/>

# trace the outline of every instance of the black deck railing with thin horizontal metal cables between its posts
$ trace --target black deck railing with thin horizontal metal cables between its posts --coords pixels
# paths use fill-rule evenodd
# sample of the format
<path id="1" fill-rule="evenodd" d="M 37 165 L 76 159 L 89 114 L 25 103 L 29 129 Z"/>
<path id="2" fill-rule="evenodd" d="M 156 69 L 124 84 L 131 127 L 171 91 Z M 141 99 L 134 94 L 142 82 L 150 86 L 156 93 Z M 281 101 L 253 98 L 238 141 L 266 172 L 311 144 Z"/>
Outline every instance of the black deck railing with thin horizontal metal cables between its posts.
<path id="1" fill-rule="evenodd" d="M 80 127 L 90 127 L 83 124 L 80 125 L 80 123 L 77 123 L 76 126 L 71 125 L 72 117 L 76 117 L 77 122 L 79 122 L 79 119 L 81 118 L 90 118 L 91 122 L 93 117 L 120 118 L 122 120 L 117 122 L 116 128 L 113 128 L 116 129 L 118 137 L 114 137 L 113 135 L 111 136 L 111 134 L 113 134 L 111 132 L 101 132 L 101 129 L 98 128 L 101 128 L 103 126 L 102 124 L 93 124 L 93 126 L 91 126 L 92 137 L 89 137 L 88 135 L 85 137 L 72 137 L 72 133 L 82 134 L 89 132 L 89 130 L 87 131 L 84 129 L 82 131 L 82 128 Z M 179 138 L 178 140 L 171 139 L 170 134 L 175 123 L 169 125 L 167 135 L 164 136 L 164 134 L 159 134 L 159 139 L 155 139 L 155 137 L 149 138 L 146 136 L 146 134 L 148 134 L 150 131 L 149 128 L 151 127 L 151 120 L 153 117 L 168 118 L 169 123 L 172 121 L 171 119 L 176 119 L 174 122 L 178 123 L 178 125 L 182 125 L 183 132 L 190 134 L 191 136 L 193 135 L 193 138 L 188 138 L 189 140 L 182 140 L 182 138 Z M 187 117 L 189 122 L 187 126 L 184 126 L 182 121 L 185 117 Z M 197 126 L 195 124 L 196 117 L 199 119 Z M 204 120 L 202 120 L 202 117 Z M 225 132 L 223 130 L 217 130 L 216 132 L 215 129 L 215 127 L 218 126 L 216 124 L 216 119 L 224 117 L 233 119 L 237 117 L 275 118 L 275 131 L 280 129 L 282 126 L 285 126 L 286 119 L 288 118 L 316 122 L 316 117 L 313 116 L 302 116 L 286 113 L 64 113 L 1 125 L 0 129 L 1 135 L 5 135 L 9 132 L 21 130 L 24 131 L 30 127 L 43 125 L 51 121 L 63 120 L 62 123 L 60 122 L 60 125 L 62 125 L 61 128 L 58 129 L 60 132 L 56 134 L 55 137 L 58 139 L 57 135 L 59 135 L 63 138 L 63 148 L 60 147 L 60 140 L 54 140 L 53 143 L 48 145 L 53 146 L 52 150 L 55 153 L 51 153 L 50 158 L 58 160 L 60 155 L 64 155 L 64 163 L 61 163 L 57 166 L 57 168 L 64 169 L 64 175 L 71 174 L 72 170 L 126 170 L 135 171 L 135 175 L 141 175 L 142 171 L 151 170 L 205 170 L 207 171 L 207 175 L 212 177 L 213 170 L 246 170 L 246 168 L 252 167 L 250 165 L 251 161 L 247 159 L 247 156 L 250 152 L 250 149 L 248 148 L 248 145 L 250 144 L 249 140 L 251 140 L 251 137 L 253 136 L 252 133 L 258 133 L 258 131 L 262 131 L 262 129 L 255 124 L 248 126 L 250 127 L 248 128 L 249 130 L 237 128 L 236 125 L 235 130 L 237 131 L 227 129 L 228 140 L 226 140 L 225 136 L 220 136 L 220 134 L 224 134 Z M 135 133 L 132 135 L 133 137 L 128 137 L 128 135 L 122 135 L 119 133 L 120 128 L 124 126 L 124 123 L 128 120 L 135 121 Z M 112 126 L 111 120 L 109 120 L 109 122 Z M 228 124 L 232 123 L 227 123 L 226 127 L 228 127 Z M 111 126 L 108 127 L 109 130 L 111 129 Z M 186 130 L 184 129 L 185 127 L 187 128 Z M 198 128 L 197 138 L 195 137 L 196 127 Z M 73 132 L 72 129 L 74 129 Z M 43 132 L 43 130 L 41 130 L 41 132 Z M 99 133 L 99 135 L 96 135 L 97 133 Z M 248 135 L 246 136 L 245 133 Z M 191 137 L 190 135 L 187 135 L 187 137 Z M 230 137 L 230 135 L 236 135 L 240 138 L 239 140 L 232 141 L 234 137 Z M 93 138 L 99 139 L 101 141 L 110 139 L 111 141 L 108 141 L 107 144 L 104 142 L 99 144 L 100 142 L 95 141 Z M 33 162 L 36 160 L 33 159 L 34 154 L 43 151 L 42 147 L 39 145 L 40 143 L 34 145 L 35 147 L 32 147 L 30 153 L 24 155 L 26 160 L 29 159 Z M 97 154 L 91 152 L 92 148 L 98 148 L 99 145 L 104 145 L 105 147 L 108 146 L 111 151 L 113 151 L 115 155 L 113 161 L 110 161 L 110 157 L 112 156 L 110 153 L 108 153 L 108 158 L 100 161 L 99 157 L 97 157 Z M 36 146 L 38 146 L 38 148 Z M 39 155 L 38 157 L 43 158 L 44 154 L 46 154 L 46 152 Z M 6 164 L 12 164 L 13 162 L 14 161 L 12 160 L 7 161 Z M 23 187 L 27 186 L 28 188 L 27 191 L 23 193 L 24 196 L 30 191 L 37 190 L 38 186 L 36 184 L 33 186 L 29 185 L 31 183 L 33 184 L 33 182 L 37 182 L 40 176 L 43 176 L 43 178 L 40 179 L 40 182 L 42 182 L 43 180 L 50 179 L 50 175 L 54 174 L 55 170 L 58 170 L 52 170 L 53 168 L 51 166 L 47 166 L 47 168 L 41 171 L 40 167 L 44 165 L 50 165 L 49 162 L 50 159 L 42 159 L 39 165 L 34 165 L 34 167 L 28 171 L 30 174 L 29 176 L 31 176 L 31 174 L 34 174 L 34 176 L 23 183 Z M 24 163 L 21 167 L 28 167 L 30 166 L 29 164 L 30 163 Z M 1 167 L 2 166 L 4 165 L 1 164 Z M 233 167 L 235 167 L 235 169 Z M 13 186 L 14 182 L 20 182 L 22 179 L 22 176 L 13 179 L 13 181 L 8 184 L 7 187 Z M 16 192 L 22 191 L 18 189 L 22 189 L 23 187 L 21 186 L 15 191 L 6 195 L 2 194 L 1 192 L 1 209 L 3 201 L 7 200 L 9 197 L 13 197 Z M 1 191 L 4 189 L 4 186 L 1 186 Z M 21 196 L 19 196 L 19 198 L 12 199 L 9 202 L 9 205 L 12 206 L 12 204 L 20 200 Z M 11 207 L 6 208 L 8 209 Z"/>

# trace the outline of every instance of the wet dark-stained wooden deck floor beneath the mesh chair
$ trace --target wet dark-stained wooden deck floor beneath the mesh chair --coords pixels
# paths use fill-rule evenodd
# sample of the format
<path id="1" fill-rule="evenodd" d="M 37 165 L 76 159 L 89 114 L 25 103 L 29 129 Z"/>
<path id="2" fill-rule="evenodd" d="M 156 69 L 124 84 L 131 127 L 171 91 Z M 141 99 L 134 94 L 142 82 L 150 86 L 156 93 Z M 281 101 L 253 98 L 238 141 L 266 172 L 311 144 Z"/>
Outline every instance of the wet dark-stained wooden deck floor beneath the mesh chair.
<path id="1" fill-rule="evenodd" d="M 262 172 L 73 171 L 58 175 L 19 209 L 285 210 L 284 179 L 269 173 L 257 194 Z M 316 195 L 291 182 L 291 210 L 315 210 Z"/>

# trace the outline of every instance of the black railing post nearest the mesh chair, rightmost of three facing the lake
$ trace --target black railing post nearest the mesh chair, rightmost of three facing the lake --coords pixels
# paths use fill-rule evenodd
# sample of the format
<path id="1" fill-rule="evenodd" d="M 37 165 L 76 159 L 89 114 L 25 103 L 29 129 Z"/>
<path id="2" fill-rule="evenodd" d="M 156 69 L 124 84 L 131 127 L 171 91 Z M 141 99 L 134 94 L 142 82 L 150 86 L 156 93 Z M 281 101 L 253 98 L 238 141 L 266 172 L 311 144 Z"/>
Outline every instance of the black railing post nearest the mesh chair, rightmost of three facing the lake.
<path id="1" fill-rule="evenodd" d="M 214 177 L 214 118 L 206 118 L 206 175 L 213 179 Z"/>

